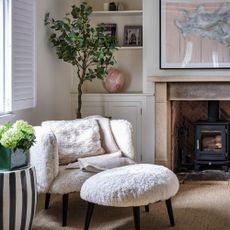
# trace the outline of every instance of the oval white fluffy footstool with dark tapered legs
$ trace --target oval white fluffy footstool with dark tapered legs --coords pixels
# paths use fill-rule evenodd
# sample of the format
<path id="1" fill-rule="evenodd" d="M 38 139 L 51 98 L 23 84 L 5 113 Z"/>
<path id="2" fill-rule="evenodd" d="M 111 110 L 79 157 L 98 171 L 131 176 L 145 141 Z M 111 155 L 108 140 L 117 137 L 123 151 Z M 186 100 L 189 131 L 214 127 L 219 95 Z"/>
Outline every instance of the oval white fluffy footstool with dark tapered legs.
<path id="1" fill-rule="evenodd" d="M 140 229 L 140 206 L 165 200 L 170 223 L 174 226 L 171 204 L 179 189 L 176 175 L 164 166 L 135 164 L 109 169 L 85 181 L 80 196 L 88 201 L 85 227 L 89 228 L 94 204 L 133 207 L 135 229 Z"/>

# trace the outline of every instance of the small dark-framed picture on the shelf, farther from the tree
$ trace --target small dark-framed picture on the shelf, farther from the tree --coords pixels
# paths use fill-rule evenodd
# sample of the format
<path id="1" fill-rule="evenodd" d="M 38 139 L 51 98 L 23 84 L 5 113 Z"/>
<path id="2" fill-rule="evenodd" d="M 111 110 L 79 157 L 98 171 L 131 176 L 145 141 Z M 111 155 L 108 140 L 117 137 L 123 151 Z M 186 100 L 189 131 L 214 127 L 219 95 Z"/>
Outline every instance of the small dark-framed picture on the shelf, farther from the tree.
<path id="1" fill-rule="evenodd" d="M 142 26 L 130 25 L 124 27 L 124 46 L 142 46 Z"/>

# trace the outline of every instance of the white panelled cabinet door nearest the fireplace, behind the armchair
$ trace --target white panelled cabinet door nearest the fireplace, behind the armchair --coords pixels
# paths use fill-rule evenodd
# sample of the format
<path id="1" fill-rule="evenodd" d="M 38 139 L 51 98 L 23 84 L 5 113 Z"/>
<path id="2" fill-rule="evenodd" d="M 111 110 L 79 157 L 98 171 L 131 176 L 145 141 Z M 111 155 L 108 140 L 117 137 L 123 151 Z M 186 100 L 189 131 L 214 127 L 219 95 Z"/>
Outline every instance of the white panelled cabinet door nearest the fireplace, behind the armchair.
<path id="1" fill-rule="evenodd" d="M 133 127 L 133 143 L 136 152 L 136 161 L 141 161 L 142 128 L 141 128 L 141 102 L 133 101 L 109 101 L 105 103 L 105 115 L 112 119 L 128 120 Z M 121 134 L 122 135 L 122 134 Z"/>

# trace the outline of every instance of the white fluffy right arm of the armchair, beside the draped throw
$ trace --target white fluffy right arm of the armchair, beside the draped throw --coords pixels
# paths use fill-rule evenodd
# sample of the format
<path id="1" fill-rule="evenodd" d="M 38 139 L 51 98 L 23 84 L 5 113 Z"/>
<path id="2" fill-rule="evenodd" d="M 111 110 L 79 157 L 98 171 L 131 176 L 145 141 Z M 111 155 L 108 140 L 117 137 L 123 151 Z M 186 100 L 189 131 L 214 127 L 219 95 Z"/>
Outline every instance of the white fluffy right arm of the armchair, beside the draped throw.
<path id="1" fill-rule="evenodd" d="M 133 146 L 133 129 L 127 120 L 111 120 L 111 129 L 114 139 L 122 153 L 134 159 L 135 152 Z"/>

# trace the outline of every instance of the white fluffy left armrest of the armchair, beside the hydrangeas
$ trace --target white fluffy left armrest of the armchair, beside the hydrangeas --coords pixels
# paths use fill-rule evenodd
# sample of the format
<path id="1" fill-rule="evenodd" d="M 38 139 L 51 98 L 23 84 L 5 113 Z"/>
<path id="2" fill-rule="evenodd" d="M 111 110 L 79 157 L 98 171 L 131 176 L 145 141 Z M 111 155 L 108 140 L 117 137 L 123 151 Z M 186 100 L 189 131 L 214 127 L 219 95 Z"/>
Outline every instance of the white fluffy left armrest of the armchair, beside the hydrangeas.
<path id="1" fill-rule="evenodd" d="M 46 193 L 58 174 L 58 146 L 54 133 L 35 126 L 36 143 L 30 148 L 30 162 L 35 166 L 38 192 Z"/>

